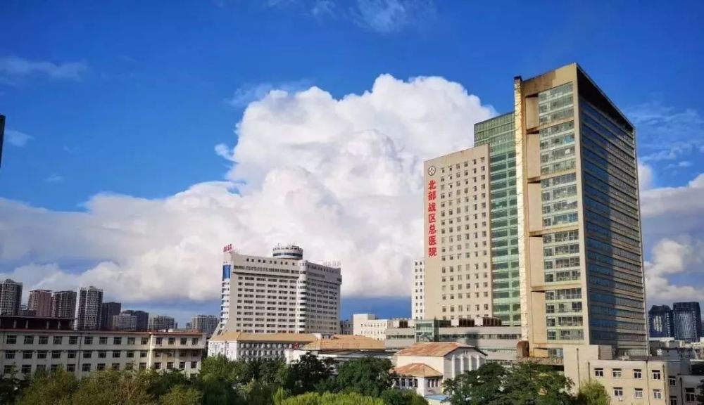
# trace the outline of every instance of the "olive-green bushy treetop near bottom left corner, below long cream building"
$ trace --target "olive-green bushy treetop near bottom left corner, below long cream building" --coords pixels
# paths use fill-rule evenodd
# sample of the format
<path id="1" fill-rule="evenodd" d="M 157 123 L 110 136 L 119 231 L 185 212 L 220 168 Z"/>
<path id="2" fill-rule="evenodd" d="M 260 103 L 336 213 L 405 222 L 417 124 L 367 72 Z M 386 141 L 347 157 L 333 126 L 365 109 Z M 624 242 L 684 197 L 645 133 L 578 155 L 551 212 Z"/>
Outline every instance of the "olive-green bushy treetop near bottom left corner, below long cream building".
<path id="1" fill-rule="evenodd" d="M 73 373 L 58 368 L 51 373 L 37 373 L 30 385 L 23 390 L 18 405 L 68 404 L 71 395 L 78 388 L 78 380 Z M 14 402 L 1 402 L 13 404 Z"/>

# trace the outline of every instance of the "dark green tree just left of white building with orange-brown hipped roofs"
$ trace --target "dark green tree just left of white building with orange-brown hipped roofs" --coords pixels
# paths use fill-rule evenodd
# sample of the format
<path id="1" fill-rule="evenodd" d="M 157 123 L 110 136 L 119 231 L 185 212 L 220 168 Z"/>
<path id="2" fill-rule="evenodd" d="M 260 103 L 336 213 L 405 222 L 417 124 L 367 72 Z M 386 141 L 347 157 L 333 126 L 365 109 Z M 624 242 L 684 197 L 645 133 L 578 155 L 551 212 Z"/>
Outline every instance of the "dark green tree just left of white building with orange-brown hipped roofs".
<path id="1" fill-rule="evenodd" d="M 393 375 L 390 370 L 391 361 L 388 359 L 365 357 L 346 361 L 340 366 L 337 377 L 329 384 L 320 385 L 320 389 L 379 397 L 391 388 Z"/>

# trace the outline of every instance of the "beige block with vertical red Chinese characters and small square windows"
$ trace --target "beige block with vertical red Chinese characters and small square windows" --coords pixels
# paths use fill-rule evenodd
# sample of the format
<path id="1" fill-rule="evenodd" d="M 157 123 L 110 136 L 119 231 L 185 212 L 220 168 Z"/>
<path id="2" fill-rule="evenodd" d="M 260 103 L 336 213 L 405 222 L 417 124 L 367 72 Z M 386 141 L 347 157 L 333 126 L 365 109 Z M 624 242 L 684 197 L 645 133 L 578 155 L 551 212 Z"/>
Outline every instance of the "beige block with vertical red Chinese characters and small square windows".
<path id="1" fill-rule="evenodd" d="M 425 162 L 425 319 L 491 316 L 489 146 Z"/>

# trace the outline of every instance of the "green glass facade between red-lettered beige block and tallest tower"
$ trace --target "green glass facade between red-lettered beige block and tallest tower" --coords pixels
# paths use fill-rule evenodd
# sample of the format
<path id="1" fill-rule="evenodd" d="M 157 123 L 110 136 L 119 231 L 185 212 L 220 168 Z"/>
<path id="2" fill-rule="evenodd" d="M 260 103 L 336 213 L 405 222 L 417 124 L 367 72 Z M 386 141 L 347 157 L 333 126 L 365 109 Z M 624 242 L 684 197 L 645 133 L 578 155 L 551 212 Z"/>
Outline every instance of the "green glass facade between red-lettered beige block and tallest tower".
<path id="1" fill-rule="evenodd" d="M 489 145 L 491 296 L 494 316 L 520 326 L 518 212 L 513 112 L 474 125 L 474 145 Z"/>

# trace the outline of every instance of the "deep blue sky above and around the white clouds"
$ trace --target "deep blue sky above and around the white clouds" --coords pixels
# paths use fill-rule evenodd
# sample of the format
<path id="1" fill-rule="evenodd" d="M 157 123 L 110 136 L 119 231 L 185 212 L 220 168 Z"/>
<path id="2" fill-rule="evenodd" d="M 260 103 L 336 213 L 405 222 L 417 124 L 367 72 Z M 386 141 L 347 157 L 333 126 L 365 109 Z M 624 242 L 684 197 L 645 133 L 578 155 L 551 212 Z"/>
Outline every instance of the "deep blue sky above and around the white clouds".
<path id="1" fill-rule="evenodd" d="M 219 156 L 215 146 L 236 146 L 245 109 L 270 89 L 295 94 L 318 86 L 339 99 L 370 91 L 382 74 L 400 81 L 437 76 L 503 113 L 512 108 L 515 75 L 574 61 L 636 122 L 650 197 L 689 196 L 699 193 L 690 182 L 703 171 L 703 17 L 700 1 L 640 7 L 613 1 L 532 7 L 508 1 L 2 1 L 0 113 L 8 134 L 0 197 L 13 209 L 41 208 L 51 216 L 91 211 L 86 203 L 95 195 L 152 203 L 203 182 L 231 181 L 236 165 L 222 156 L 232 156 Z M 669 210 L 653 207 L 653 224 L 672 223 L 663 217 Z M 688 210 L 675 218 L 704 213 L 698 205 Z M 121 218 L 149 217 L 130 212 Z M 1 215 L 0 225 L 10 221 Z M 688 255 L 701 242 L 696 227 L 669 231 L 644 222 L 646 257 L 656 267 L 650 251 L 662 240 Z M 46 233 L 39 224 L 15 229 Z M 59 230 L 56 238 L 81 231 Z M 143 253 L 52 256 L 43 246 L 26 248 L 13 255 L 6 246 L 0 250 L 0 272 L 57 264 L 78 274 Z M 213 250 L 217 259 L 218 246 Z M 672 283 L 704 284 L 693 264 L 662 266 L 658 276 Z M 374 295 L 381 303 L 372 309 L 407 315 L 384 309 L 386 293 Z M 161 308 L 179 297 L 127 298 Z M 389 308 L 398 308 L 399 299 L 389 298 Z M 184 313 L 217 307 L 205 293 L 175 302 Z M 346 303 L 346 313 L 369 307 L 360 299 Z"/>

